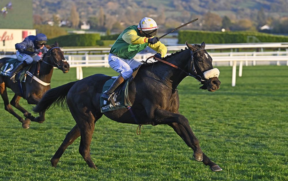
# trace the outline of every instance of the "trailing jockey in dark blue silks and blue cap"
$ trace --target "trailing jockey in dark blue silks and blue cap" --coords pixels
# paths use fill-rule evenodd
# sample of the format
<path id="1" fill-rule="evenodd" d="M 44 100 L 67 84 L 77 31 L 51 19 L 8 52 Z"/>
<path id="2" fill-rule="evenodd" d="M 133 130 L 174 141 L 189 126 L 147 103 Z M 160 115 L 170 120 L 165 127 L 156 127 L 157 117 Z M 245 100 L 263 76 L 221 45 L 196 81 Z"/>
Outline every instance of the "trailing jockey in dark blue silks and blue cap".
<path id="1" fill-rule="evenodd" d="M 43 33 L 39 33 L 36 36 L 27 36 L 23 42 L 15 44 L 16 57 L 21 63 L 17 65 L 10 73 L 10 79 L 15 82 L 15 75 L 33 61 L 39 61 L 41 59 L 38 54 L 45 54 L 48 49 L 45 44 L 47 43 L 47 37 Z"/>

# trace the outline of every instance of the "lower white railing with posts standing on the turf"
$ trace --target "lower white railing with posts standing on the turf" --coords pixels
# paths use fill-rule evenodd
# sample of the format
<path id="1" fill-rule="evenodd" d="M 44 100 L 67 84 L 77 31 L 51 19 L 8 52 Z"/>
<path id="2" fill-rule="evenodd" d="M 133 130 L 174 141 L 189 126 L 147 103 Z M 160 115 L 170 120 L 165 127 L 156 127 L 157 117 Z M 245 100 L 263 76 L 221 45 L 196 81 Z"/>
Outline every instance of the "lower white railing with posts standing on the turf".
<path id="1" fill-rule="evenodd" d="M 242 67 L 255 65 L 287 65 L 288 50 L 274 52 L 227 52 L 209 53 L 213 59 L 213 66 L 232 66 L 232 86 L 236 85 L 236 66 L 239 66 L 239 77 Z M 137 54 L 134 59 L 145 61 L 154 54 Z M 108 55 L 65 55 L 70 67 L 76 67 L 77 79 L 83 78 L 82 67 L 109 67 Z"/>

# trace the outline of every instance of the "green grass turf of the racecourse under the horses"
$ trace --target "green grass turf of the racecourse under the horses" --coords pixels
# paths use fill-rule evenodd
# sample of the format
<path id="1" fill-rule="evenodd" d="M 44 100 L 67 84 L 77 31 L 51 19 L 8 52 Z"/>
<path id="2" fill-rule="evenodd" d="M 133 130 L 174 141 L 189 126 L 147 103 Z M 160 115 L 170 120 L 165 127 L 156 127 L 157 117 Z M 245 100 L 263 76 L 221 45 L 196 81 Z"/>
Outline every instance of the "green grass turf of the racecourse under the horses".
<path id="1" fill-rule="evenodd" d="M 235 87 L 232 67 L 218 68 L 218 91 L 200 90 L 188 77 L 178 93 L 181 114 L 203 152 L 223 171 L 214 173 L 195 161 L 192 149 L 167 125 L 144 125 L 138 136 L 137 125 L 105 116 L 96 122 L 91 144 L 98 169 L 90 169 L 79 154 L 79 138 L 54 168 L 50 159 L 75 125 L 71 114 L 52 109 L 45 122 L 24 130 L 0 101 L 0 180 L 288 180 L 288 67 L 243 67 Z M 117 75 L 110 68 L 83 71 L 84 77 Z M 75 79 L 75 69 L 54 70 L 52 87 Z M 24 100 L 20 103 L 31 110 Z"/>

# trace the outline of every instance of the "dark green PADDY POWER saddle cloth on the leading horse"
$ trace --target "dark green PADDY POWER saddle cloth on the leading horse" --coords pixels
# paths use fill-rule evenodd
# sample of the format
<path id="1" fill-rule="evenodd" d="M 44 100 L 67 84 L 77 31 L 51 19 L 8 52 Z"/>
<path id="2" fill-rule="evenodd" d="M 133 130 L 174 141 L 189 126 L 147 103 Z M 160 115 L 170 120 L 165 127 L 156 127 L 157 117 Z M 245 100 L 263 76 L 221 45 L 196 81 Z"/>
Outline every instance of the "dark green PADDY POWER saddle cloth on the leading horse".
<path id="1" fill-rule="evenodd" d="M 101 112 L 113 111 L 117 109 L 127 108 L 128 106 L 132 106 L 132 103 L 130 102 L 129 96 L 128 96 L 128 85 L 134 79 L 140 67 L 141 65 L 137 67 L 135 71 L 133 71 L 132 76 L 129 79 L 127 79 L 118 88 L 116 88 L 115 94 L 113 96 L 116 107 L 113 107 L 110 102 L 107 102 L 104 99 L 102 99 L 102 97 L 100 97 Z M 112 85 L 112 83 L 114 82 L 116 78 L 117 76 L 111 77 L 111 79 L 105 82 L 103 86 L 102 94 L 110 88 L 110 86 Z"/>

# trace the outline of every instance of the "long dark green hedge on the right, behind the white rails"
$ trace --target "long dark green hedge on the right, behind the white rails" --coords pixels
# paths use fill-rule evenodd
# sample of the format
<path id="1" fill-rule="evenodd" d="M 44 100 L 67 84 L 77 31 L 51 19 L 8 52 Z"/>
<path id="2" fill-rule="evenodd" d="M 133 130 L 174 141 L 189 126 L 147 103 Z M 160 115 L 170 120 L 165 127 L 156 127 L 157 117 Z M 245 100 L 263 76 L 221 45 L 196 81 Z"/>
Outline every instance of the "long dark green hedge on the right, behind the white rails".
<path id="1" fill-rule="evenodd" d="M 210 44 L 227 44 L 227 43 L 248 43 L 248 36 L 256 37 L 260 42 L 288 42 L 288 36 L 272 35 L 268 33 L 247 32 L 247 31 L 227 31 L 227 32 L 214 32 L 214 31 L 192 31 L 181 30 L 178 34 L 178 43 L 184 44 L 186 41 L 189 43 L 210 43 Z M 250 37 L 250 42 L 253 37 Z M 257 42 L 257 41 L 256 41 Z"/>

